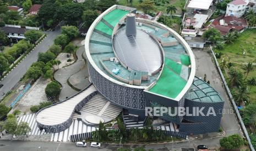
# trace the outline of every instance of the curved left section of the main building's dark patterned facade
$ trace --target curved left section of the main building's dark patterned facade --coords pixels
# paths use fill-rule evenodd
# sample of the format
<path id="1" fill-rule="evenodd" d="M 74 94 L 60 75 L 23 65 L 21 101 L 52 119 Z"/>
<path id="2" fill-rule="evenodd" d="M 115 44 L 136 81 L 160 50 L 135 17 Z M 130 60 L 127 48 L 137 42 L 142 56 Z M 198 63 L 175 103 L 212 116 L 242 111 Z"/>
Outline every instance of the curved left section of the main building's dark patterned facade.
<path id="1" fill-rule="evenodd" d="M 90 78 L 100 93 L 111 102 L 128 109 L 145 109 L 144 89 L 129 88 L 111 82 L 88 63 Z"/>

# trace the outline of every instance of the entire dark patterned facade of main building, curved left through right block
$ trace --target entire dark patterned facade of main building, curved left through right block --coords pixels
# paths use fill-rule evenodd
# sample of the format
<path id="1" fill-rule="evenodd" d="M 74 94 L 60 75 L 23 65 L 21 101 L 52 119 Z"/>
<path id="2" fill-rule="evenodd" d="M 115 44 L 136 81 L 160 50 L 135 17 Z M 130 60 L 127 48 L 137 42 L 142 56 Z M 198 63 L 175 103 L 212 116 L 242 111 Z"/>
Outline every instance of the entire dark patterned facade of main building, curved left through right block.
<path id="1" fill-rule="evenodd" d="M 168 117 L 161 116 L 160 118 L 176 123 L 179 125 L 179 132 L 187 134 L 200 134 L 206 132 L 217 132 L 220 128 L 220 121 L 222 117 L 222 108 L 224 102 L 198 102 L 188 100 L 188 92 L 179 101 L 172 100 L 171 98 L 152 94 L 151 92 L 144 91 L 144 89 L 129 88 L 127 86 L 119 85 L 111 82 L 103 77 L 100 73 L 94 69 L 88 63 L 88 69 L 92 83 L 97 90 L 104 95 L 108 100 L 117 106 L 129 109 L 129 113 L 137 114 L 139 117 L 145 117 L 145 107 L 151 107 L 152 102 L 155 102 L 156 106 L 160 107 L 205 107 L 203 110 L 204 115 L 207 114 L 208 108 L 212 107 L 216 113 L 216 116 L 210 115 L 209 117 L 199 116 L 176 116 Z M 189 111 L 189 113 L 192 111 Z"/>

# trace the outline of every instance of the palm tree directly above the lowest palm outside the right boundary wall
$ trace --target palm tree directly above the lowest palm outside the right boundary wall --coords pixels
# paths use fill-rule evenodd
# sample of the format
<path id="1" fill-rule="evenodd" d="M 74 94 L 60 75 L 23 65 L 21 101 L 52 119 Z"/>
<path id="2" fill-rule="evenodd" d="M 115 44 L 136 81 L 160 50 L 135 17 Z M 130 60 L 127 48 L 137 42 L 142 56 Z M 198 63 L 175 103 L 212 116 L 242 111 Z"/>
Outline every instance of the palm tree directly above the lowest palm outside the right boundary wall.
<path id="1" fill-rule="evenodd" d="M 230 86 L 239 86 L 243 83 L 242 73 L 238 71 L 236 68 L 231 68 L 228 74 Z"/>

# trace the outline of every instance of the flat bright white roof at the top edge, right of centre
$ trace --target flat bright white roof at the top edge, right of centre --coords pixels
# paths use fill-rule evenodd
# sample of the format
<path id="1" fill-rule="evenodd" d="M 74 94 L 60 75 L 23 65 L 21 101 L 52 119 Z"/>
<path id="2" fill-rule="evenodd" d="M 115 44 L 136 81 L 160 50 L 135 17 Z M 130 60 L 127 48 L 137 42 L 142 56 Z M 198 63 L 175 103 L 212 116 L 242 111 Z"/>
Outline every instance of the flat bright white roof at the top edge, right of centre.
<path id="1" fill-rule="evenodd" d="M 208 10 L 213 0 L 192 0 L 187 8 Z"/>

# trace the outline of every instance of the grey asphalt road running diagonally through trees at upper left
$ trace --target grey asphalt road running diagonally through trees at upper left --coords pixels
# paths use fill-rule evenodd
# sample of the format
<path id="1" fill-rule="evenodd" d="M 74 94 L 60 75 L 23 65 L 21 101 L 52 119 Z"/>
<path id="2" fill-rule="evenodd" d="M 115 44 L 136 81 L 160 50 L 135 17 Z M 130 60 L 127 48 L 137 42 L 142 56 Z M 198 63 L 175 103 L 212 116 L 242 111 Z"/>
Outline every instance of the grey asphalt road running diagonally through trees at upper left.
<path id="1" fill-rule="evenodd" d="M 26 73 L 27 69 L 32 65 L 33 62 L 37 61 L 38 53 L 45 53 L 48 48 L 53 44 L 53 40 L 61 33 L 60 30 L 45 32 L 47 37 L 37 45 L 37 47 L 31 51 L 31 53 L 25 57 L 23 61 L 19 63 L 17 67 L 11 71 L 1 83 L 3 87 L 0 89 L 0 100 L 3 98 L 2 93 L 10 91 L 20 80 L 21 77 Z"/>

